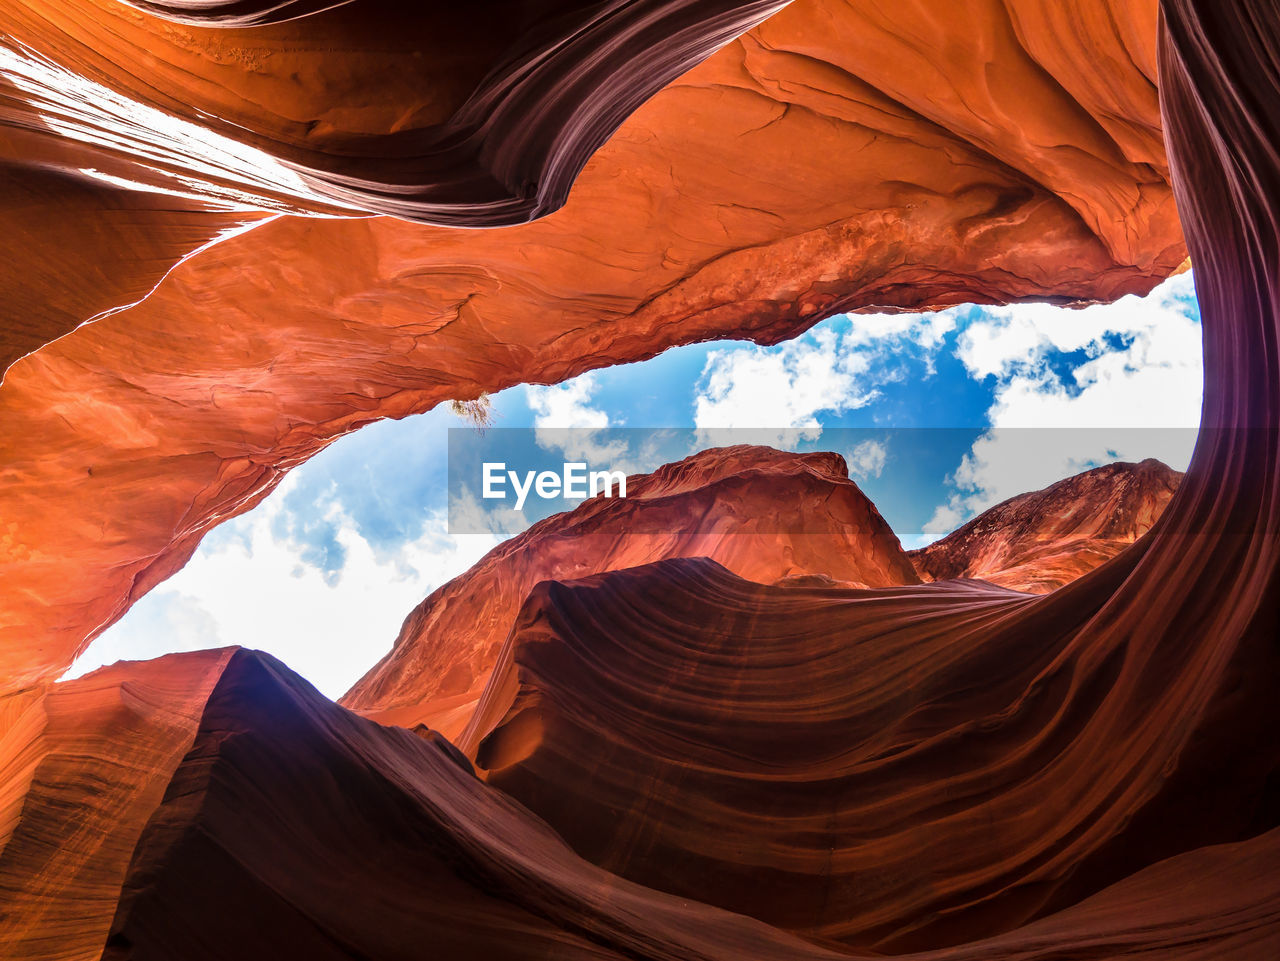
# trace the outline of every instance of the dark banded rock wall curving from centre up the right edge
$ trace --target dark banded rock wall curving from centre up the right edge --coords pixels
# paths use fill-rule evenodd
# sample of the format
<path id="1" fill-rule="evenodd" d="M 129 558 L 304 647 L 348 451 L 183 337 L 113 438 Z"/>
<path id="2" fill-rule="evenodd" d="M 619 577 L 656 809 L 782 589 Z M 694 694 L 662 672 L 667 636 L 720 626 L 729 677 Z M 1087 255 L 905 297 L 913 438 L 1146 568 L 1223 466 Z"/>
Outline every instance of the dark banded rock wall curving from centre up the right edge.
<path id="1" fill-rule="evenodd" d="M 959 637 L 942 650 L 956 660 L 946 664 L 891 659 L 895 644 L 911 658 L 918 632 L 963 610 L 952 601 L 931 616 L 929 589 L 899 616 L 876 617 L 870 636 L 842 624 L 850 647 L 883 665 L 879 686 L 847 701 L 842 688 L 824 697 L 812 676 L 782 679 L 801 651 L 822 649 L 804 646 L 818 644 L 817 630 L 792 630 L 797 605 L 768 610 L 764 589 L 675 567 L 690 562 L 544 589 L 495 674 L 512 679 L 490 687 L 506 696 L 481 705 L 494 727 L 477 760 L 492 783 L 625 874 L 673 889 L 705 871 L 704 897 L 890 951 L 1012 932 L 1197 848 L 1262 856 L 1280 823 L 1280 747 L 1268 733 L 1280 720 L 1270 691 L 1280 669 L 1280 18 L 1248 3 L 1166 9 L 1166 129 L 1193 258 L 1207 274 L 1207 431 L 1152 534 L 1047 598 L 974 612 L 952 630 Z M 639 616 L 625 600 L 637 594 L 650 598 Z M 608 639 L 590 659 L 586 623 L 596 645 Z M 782 674 L 756 690 L 744 668 L 762 647 Z M 630 683 L 654 662 L 666 685 Z M 819 728 L 769 743 L 796 717 L 849 720 L 831 741 Z M 681 736 L 662 740 L 672 728 Z M 805 759 L 819 743 L 829 754 Z M 780 769 L 797 755 L 808 765 Z M 593 782 L 571 796 L 563 786 L 582 783 L 575 766 L 585 756 Z M 783 809 L 797 823 L 756 848 L 750 839 L 780 814 L 759 784 L 768 778 L 801 798 L 815 779 L 831 788 L 812 813 Z M 690 819 L 730 830 L 682 830 Z M 740 843 L 722 846 L 726 833 Z M 671 860 L 684 870 L 664 877 Z M 828 897 L 847 891 L 831 916 L 827 900 L 787 905 L 733 883 L 735 868 L 813 864 L 840 882 Z M 800 883 L 787 880 L 777 891 Z M 1272 902 L 1242 957 L 1275 949 L 1275 911 Z"/>

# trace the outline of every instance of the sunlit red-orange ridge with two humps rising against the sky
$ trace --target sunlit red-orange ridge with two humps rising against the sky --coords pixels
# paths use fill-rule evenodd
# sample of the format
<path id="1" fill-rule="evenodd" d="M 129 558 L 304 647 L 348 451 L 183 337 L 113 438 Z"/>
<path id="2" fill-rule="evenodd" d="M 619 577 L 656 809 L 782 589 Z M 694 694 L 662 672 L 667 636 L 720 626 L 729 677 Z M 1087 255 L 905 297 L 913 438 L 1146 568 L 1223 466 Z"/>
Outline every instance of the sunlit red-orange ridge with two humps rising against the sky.
<path id="1" fill-rule="evenodd" d="M 1181 475 L 1117 463 L 998 504 L 902 553 L 838 454 L 703 450 L 538 522 L 435 590 L 392 650 L 339 701 L 389 724 L 426 724 L 474 755 L 471 718 L 529 592 L 669 558 L 705 557 L 760 584 L 896 587 L 983 580 L 1046 594 L 1111 559 L 1158 520 Z M 490 695 L 492 697 L 493 695 Z"/>

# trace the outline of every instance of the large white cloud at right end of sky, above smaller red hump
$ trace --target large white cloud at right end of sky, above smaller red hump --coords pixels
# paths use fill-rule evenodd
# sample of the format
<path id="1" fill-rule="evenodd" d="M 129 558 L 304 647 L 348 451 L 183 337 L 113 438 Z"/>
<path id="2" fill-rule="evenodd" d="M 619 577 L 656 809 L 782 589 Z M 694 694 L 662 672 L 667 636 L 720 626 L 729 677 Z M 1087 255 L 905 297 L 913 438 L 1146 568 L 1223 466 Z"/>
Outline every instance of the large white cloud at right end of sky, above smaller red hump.
<path id="1" fill-rule="evenodd" d="M 1201 326 L 1189 274 L 1146 298 L 1066 310 L 993 308 L 957 356 L 995 384 L 984 431 L 925 525 L 945 535 L 993 504 L 1114 461 L 1185 470 L 1202 398 Z"/>

